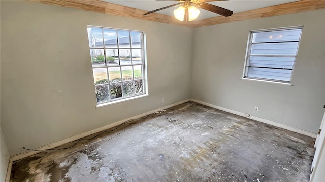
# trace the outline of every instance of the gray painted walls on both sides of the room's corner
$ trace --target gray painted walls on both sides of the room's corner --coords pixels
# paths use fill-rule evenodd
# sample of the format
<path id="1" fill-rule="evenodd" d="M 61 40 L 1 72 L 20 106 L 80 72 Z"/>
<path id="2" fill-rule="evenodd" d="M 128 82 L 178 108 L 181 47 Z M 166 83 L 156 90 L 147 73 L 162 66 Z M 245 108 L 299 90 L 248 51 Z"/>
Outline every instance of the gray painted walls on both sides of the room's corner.
<path id="1" fill-rule="evenodd" d="M 190 97 L 316 132 L 325 103 L 324 13 L 190 29 L 1 1 L 1 128 L 9 152 L 14 155 L 22 147 L 40 147 Z M 149 97 L 95 108 L 86 25 L 146 31 Z M 240 80 L 248 31 L 295 25 L 304 25 L 304 31 L 294 86 Z"/>

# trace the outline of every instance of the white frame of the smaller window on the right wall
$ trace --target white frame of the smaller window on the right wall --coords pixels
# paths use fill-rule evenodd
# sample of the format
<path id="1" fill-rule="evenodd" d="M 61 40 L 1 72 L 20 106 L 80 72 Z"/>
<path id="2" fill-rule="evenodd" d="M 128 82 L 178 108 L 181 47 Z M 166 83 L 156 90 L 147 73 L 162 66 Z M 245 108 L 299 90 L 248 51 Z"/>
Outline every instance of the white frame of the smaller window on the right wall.
<path id="1" fill-rule="evenodd" d="M 296 41 L 296 42 L 298 42 L 298 47 L 297 47 L 296 55 L 250 55 L 251 48 L 252 48 L 253 33 L 257 33 L 257 32 L 271 32 L 271 31 L 279 31 L 279 30 L 293 30 L 293 29 L 301 29 L 301 34 L 300 34 L 299 40 Z M 253 80 L 253 81 L 263 81 L 263 82 L 269 82 L 269 83 L 280 83 L 280 84 L 286 84 L 286 85 L 290 85 L 291 86 L 292 85 L 291 84 L 291 79 L 292 79 L 293 72 L 294 72 L 294 68 L 295 68 L 295 64 L 296 64 L 296 58 L 297 58 L 297 54 L 298 54 L 298 50 L 299 50 L 299 44 L 300 44 L 300 41 L 301 41 L 302 31 L 303 31 L 303 26 L 292 26 L 292 27 L 271 28 L 271 29 L 261 29 L 261 30 L 251 30 L 251 31 L 249 31 L 242 79 L 244 79 L 244 80 Z M 283 41 L 283 43 L 287 43 L 287 42 L 289 42 L 289 41 Z M 264 42 L 264 43 L 267 43 L 267 42 Z M 249 57 L 250 56 L 294 57 L 294 64 L 293 64 L 293 68 L 291 69 L 292 71 L 291 71 L 291 75 L 290 75 L 290 81 L 275 80 L 275 79 L 266 79 L 266 78 L 256 78 L 256 77 L 248 77 L 247 74 L 248 74 Z M 268 68 L 268 67 L 265 67 L 265 68 Z M 282 69 L 285 69 L 285 68 L 282 68 Z"/>

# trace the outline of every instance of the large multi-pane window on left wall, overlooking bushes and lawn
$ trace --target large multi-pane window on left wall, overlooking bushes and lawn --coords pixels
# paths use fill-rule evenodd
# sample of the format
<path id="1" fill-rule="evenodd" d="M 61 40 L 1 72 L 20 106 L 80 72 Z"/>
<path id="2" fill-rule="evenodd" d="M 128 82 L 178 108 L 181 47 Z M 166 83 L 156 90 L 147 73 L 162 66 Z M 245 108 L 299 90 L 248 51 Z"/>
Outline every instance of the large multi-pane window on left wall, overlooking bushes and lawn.
<path id="1" fill-rule="evenodd" d="M 88 26 L 97 103 L 145 93 L 144 32 Z"/>

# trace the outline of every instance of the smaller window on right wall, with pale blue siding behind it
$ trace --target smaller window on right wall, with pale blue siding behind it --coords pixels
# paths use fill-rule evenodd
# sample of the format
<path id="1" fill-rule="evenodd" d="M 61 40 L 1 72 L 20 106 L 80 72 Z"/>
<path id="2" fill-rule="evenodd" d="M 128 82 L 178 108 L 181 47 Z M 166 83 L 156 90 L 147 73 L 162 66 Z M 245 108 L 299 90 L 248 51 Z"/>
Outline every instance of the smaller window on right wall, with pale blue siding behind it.
<path id="1" fill-rule="evenodd" d="M 303 27 L 249 33 L 243 78 L 290 83 Z"/>

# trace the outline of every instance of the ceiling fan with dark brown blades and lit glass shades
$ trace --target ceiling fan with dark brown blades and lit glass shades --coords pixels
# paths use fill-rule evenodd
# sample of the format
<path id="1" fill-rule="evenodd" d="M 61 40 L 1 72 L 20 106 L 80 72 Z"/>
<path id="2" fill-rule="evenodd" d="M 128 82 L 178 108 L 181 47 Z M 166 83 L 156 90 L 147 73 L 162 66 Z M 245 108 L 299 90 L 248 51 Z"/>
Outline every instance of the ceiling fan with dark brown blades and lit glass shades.
<path id="1" fill-rule="evenodd" d="M 164 0 L 160 0 L 160 1 L 164 1 Z M 210 1 L 224 1 L 224 0 L 181 0 L 181 1 L 173 0 L 173 1 L 178 1 L 179 3 L 169 5 L 163 8 L 158 8 L 156 10 L 149 11 L 143 15 L 148 15 L 150 13 L 154 13 L 160 10 L 164 10 L 166 8 L 171 8 L 176 6 L 179 7 L 174 10 L 174 16 L 176 19 L 184 22 L 193 21 L 198 18 L 200 14 L 200 10 L 197 8 L 202 8 L 226 17 L 231 16 L 233 14 L 233 11 L 231 10 L 206 3 Z"/>

